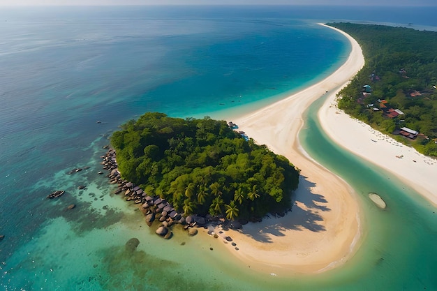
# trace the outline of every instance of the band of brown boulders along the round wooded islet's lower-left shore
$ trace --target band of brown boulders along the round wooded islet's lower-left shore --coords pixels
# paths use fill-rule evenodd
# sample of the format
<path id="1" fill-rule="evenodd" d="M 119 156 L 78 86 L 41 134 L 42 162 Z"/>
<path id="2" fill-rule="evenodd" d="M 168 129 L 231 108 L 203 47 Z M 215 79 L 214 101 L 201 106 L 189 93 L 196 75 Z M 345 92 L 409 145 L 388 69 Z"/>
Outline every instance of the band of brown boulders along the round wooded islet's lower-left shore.
<path id="1" fill-rule="evenodd" d="M 156 234 L 170 239 L 172 225 L 180 224 L 184 225 L 184 229 L 188 231 L 189 235 L 195 235 L 198 231 L 193 230 L 194 227 L 205 227 L 209 223 L 209 218 L 202 216 L 184 217 L 184 214 L 179 214 L 168 201 L 156 195 L 148 195 L 140 186 L 135 186 L 131 181 L 122 179 L 114 149 L 108 149 L 108 152 L 101 158 L 103 159 L 103 169 L 110 172 L 108 174 L 110 184 L 118 184 L 115 194 L 123 193 L 126 201 L 138 204 L 140 211 L 145 215 L 147 225 L 151 226 L 155 221 L 158 221 Z"/>

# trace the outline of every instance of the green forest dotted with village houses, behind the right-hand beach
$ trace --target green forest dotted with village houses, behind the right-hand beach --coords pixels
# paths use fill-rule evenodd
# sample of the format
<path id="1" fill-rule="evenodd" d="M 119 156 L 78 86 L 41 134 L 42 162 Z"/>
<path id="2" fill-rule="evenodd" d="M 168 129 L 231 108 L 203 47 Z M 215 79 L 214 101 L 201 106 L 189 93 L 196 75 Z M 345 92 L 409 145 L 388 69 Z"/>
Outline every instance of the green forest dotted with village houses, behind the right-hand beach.
<path id="1" fill-rule="evenodd" d="M 437 32 L 330 23 L 360 43 L 366 64 L 339 93 L 339 108 L 437 157 Z M 420 134 L 399 135 L 400 128 Z"/>

